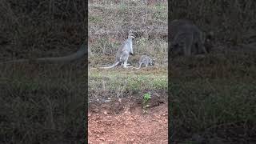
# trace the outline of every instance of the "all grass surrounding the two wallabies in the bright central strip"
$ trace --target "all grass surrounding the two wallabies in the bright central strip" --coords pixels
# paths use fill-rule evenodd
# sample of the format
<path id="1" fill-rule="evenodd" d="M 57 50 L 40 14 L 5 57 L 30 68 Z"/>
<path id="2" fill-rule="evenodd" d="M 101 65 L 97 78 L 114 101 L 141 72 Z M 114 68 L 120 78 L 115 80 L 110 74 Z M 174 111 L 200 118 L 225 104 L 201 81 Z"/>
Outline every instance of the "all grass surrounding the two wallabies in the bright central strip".
<path id="1" fill-rule="evenodd" d="M 90 1 L 90 67 L 110 65 L 114 55 L 133 30 L 134 56 L 129 63 L 147 54 L 156 59 L 153 69 L 89 70 L 89 98 L 104 102 L 107 98 L 128 97 L 149 90 L 167 89 L 167 3 L 146 6 L 142 1 Z"/>

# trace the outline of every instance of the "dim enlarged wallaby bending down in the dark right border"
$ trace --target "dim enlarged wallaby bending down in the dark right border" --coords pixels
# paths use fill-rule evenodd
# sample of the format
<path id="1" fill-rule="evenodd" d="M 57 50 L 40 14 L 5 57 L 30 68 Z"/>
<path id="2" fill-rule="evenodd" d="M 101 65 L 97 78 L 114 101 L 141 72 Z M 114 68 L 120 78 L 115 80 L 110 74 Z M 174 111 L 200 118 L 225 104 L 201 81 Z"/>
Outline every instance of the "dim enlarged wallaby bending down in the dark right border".
<path id="1" fill-rule="evenodd" d="M 206 35 L 192 22 L 185 19 L 174 20 L 170 23 L 171 52 L 176 55 L 207 54 Z"/>

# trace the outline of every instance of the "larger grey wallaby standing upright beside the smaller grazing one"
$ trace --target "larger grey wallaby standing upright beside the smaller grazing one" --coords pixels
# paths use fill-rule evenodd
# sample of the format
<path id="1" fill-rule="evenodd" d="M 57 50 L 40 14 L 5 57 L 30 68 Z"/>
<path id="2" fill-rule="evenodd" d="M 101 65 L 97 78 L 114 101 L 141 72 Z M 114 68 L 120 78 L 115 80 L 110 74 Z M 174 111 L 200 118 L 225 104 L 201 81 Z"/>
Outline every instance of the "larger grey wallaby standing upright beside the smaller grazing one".
<path id="1" fill-rule="evenodd" d="M 134 39 L 134 35 L 132 34 L 132 31 L 130 30 L 129 34 L 128 34 L 128 39 L 122 43 L 122 46 L 119 47 L 119 49 L 116 53 L 114 64 L 112 66 L 100 67 L 100 68 L 110 69 L 110 68 L 113 68 L 114 66 L 118 66 L 119 63 L 121 63 L 121 65 L 124 68 L 132 67 L 132 66 L 127 66 L 127 61 L 128 61 L 129 55 L 134 54 L 132 39 Z"/>

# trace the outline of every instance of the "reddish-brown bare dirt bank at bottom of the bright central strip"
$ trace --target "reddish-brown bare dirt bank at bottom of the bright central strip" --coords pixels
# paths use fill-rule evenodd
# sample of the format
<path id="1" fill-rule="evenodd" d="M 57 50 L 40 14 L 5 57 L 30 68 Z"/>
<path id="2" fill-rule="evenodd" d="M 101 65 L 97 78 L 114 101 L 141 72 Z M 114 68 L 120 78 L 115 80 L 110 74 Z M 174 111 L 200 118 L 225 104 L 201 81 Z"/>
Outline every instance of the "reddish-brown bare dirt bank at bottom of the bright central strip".
<path id="1" fill-rule="evenodd" d="M 132 102 L 129 98 L 89 107 L 91 144 L 168 143 L 167 98 L 152 98 L 147 113 L 143 113 L 142 102 Z"/>

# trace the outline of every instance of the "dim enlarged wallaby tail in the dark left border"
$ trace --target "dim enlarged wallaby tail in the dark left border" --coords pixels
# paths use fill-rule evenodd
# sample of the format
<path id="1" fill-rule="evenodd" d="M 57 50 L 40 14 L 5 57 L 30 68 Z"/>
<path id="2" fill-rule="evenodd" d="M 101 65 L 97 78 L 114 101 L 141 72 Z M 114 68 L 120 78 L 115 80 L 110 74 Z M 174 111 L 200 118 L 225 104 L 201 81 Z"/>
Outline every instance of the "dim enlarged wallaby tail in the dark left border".
<path id="1" fill-rule="evenodd" d="M 78 49 L 78 51 L 74 54 L 70 54 L 64 57 L 49 57 L 49 58 L 34 58 L 34 59 L 18 59 L 13 61 L 1 62 L 2 63 L 10 63 L 10 62 L 71 62 L 76 59 L 82 58 L 85 54 L 87 54 L 86 44 L 83 43 L 82 46 Z"/>

